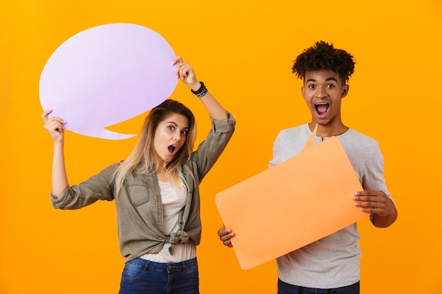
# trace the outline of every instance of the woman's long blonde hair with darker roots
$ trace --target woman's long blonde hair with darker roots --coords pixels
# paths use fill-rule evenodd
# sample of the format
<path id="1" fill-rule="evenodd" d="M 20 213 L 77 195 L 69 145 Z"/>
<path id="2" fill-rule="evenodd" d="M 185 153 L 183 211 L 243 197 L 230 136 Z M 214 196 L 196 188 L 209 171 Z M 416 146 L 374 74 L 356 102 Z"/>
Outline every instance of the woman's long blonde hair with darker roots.
<path id="1" fill-rule="evenodd" d="M 136 173 L 155 173 L 157 164 L 157 154 L 153 146 L 155 130 L 160 122 L 164 121 L 169 114 L 181 114 L 189 121 L 189 133 L 186 135 L 186 143 L 178 150 L 171 161 L 165 163 L 166 175 L 172 185 L 176 188 L 186 188 L 186 181 L 180 169 L 181 164 L 189 160 L 193 152 L 193 145 L 196 138 L 196 123 L 192 111 L 172 99 L 167 99 L 162 104 L 153 108 L 145 118 L 140 140 L 135 148 L 124 161 L 121 162 L 114 174 L 117 194 L 124 184 L 126 176 L 132 171 Z"/>

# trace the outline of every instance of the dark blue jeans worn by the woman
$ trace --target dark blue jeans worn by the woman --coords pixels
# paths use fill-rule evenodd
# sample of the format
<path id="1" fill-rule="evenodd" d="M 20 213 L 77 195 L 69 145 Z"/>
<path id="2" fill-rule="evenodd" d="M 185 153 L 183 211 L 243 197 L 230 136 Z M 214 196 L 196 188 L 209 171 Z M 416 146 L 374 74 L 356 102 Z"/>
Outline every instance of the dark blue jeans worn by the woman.
<path id="1" fill-rule="evenodd" d="M 119 294 L 198 294 L 196 258 L 162 263 L 137 258 L 126 262 Z"/>

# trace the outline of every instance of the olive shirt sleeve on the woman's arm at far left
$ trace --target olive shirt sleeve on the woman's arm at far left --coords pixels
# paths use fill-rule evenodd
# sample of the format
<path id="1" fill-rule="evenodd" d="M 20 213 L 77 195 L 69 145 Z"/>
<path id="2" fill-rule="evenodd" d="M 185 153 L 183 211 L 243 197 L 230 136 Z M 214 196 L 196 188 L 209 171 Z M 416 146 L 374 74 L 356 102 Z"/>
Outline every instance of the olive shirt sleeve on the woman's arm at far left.
<path id="1" fill-rule="evenodd" d="M 88 178 L 78 185 L 68 186 L 58 197 L 50 194 L 54 208 L 80 209 L 97 200 L 114 199 L 114 172 L 118 164 L 108 166 L 97 175 Z"/>

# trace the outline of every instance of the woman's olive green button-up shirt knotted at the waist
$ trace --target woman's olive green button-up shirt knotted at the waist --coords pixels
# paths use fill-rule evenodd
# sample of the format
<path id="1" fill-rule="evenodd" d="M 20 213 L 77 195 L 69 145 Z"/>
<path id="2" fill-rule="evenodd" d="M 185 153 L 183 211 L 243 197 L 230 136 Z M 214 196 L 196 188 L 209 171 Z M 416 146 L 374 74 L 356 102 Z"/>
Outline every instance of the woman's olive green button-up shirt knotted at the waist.
<path id="1" fill-rule="evenodd" d="M 198 245 L 201 239 L 199 184 L 215 164 L 234 133 L 236 121 L 229 114 L 223 121 L 212 122 L 213 128 L 189 161 L 182 165 L 184 178 L 189 187 L 186 204 L 179 213 L 177 232 L 167 235 L 163 231 L 163 212 L 160 186 L 155 173 L 130 173 L 118 196 L 114 173 L 119 163 L 108 166 L 83 183 L 68 186 L 56 197 L 51 194 L 52 204 L 59 209 L 79 209 L 97 200 L 115 200 L 117 226 L 121 255 L 126 262 L 146 253 L 155 254 L 165 243 L 191 242 Z"/>

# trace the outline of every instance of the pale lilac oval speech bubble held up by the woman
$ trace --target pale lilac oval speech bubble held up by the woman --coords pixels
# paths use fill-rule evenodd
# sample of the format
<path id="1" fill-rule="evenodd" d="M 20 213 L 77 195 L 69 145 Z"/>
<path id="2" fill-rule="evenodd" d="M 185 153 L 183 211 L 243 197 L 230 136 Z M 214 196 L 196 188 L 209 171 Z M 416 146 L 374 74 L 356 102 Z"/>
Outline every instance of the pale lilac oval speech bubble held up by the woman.
<path id="1" fill-rule="evenodd" d="M 105 128 L 165 101 L 177 78 L 175 54 L 148 27 L 112 23 L 79 32 L 50 56 L 40 76 L 40 103 L 66 129 L 103 139 L 134 135 Z"/>

